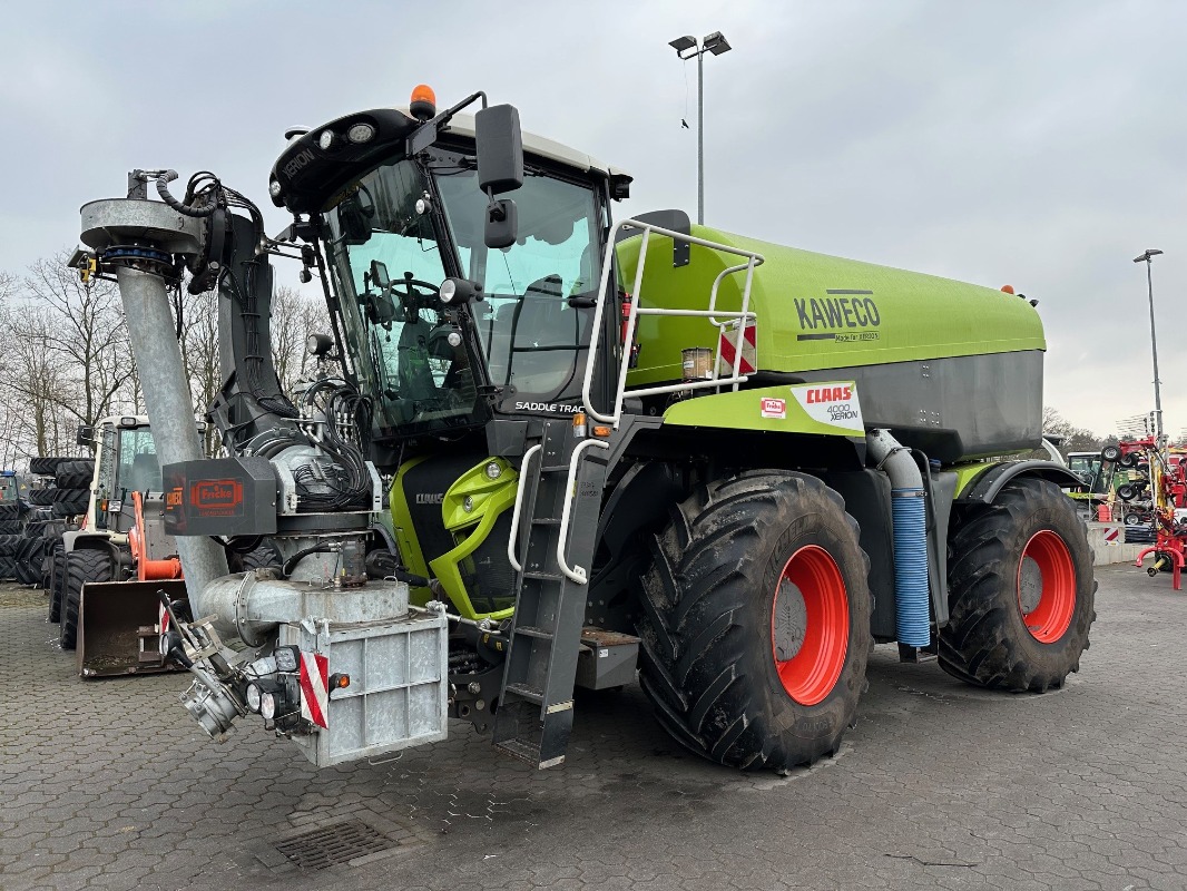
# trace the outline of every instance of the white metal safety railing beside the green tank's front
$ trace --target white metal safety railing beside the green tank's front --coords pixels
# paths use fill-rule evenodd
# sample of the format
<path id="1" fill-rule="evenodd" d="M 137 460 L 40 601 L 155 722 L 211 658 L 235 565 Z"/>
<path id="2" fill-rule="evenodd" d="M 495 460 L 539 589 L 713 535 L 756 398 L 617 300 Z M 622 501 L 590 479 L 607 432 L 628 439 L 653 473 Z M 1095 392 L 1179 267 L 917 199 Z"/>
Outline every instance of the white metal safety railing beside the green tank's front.
<path id="1" fill-rule="evenodd" d="M 610 415 L 604 415 L 594 407 L 594 402 L 590 398 L 590 391 L 594 387 L 594 367 L 597 364 L 598 342 L 601 340 L 598 333 L 602 330 L 605 304 L 610 302 L 607 298 L 607 289 L 610 284 L 610 271 L 614 268 L 615 241 L 618 233 L 626 229 L 640 229 L 642 232 L 642 244 L 639 246 L 639 266 L 635 270 L 635 283 L 630 291 L 630 310 L 627 317 L 627 330 L 620 350 L 618 384 L 615 390 L 614 410 Z M 713 279 L 713 286 L 709 293 L 709 309 L 661 309 L 659 307 L 640 307 L 639 301 L 643 289 L 643 267 L 647 264 L 647 246 L 650 242 L 652 233 L 664 235 L 673 241 L 686 241 L 690 245 L 699 245 L 700 247 L 706 247 L 710 251 L 732 254 L 735 257 L 744 257 L 745 263 L 726 266 L 717 273 L 717 278 Z M 582 384 L 582 403 L 585 407 L 585 413 L 596 421 L 601 421 L 603 424 L 611 424 L 617 429 L 620 422 L 622 421 L 622 405 L 627 397 L 637 398 L 643 396 L 656 396 L 660 393 L 677 393 L 688 390 L 709 388 L 716 388 L 721 392 L 722 387 L 730 386 L 734 390 L 737 390 L 740 384 L 744 384 L 749 379 L 748 375 L 741 373 L 742 348 L 745 341 L 745 329 L 751 322 L 757 321 L 757 316 L 750 311 L 750 286 L 754 283 L 754 270 L 756 266 L 761 266 L 762 263 L 762 254 L 755 253 L 754 251 L 744 251 L 729 245 L 722 245 L 716 241 L 700 239 L 687 233 L 673 232 L 672 229 L 665 229 L 660 226 L 653 226 L 652 223 L 641 222 L 639 220 L 628 219 L 617 223 L 607 238 L 605 254 L 602 258 L 602 277 L 597 291 L 599 299 L 594 311 L 594 324 L 590 326 L 590 346 L 589 352 L 586 353 L 585 378 Z M 722 282 L 725 280 L 726 276 L 732 276 L 743 271 L 745 272 L 745 284 L 742 289 L 742 309 L 737 312 L 717 309 L 717 295 Z M 617 301 L 615 301 L 615 303 L 617 303 Z M 737 348 L 734 350 L 734 365 L 730 369 L 730 374 L 724 378 L 716 377 L 717 369 L 715 362 L 713 378 L 627 390 L 627 373 L 630 369 L 630 345 L 634 343 L 635 340 L 635 328 L 639 322 L 639 316 L 692 316 L 697 318 L 707 318 L 709 323 L 717 328 L 718 345 L 725 335 L 725 329 L 730 327 L 730 323 L 738 321 L 738 343 Z M 717 352 L 716 348 L 713 352 Z"/>

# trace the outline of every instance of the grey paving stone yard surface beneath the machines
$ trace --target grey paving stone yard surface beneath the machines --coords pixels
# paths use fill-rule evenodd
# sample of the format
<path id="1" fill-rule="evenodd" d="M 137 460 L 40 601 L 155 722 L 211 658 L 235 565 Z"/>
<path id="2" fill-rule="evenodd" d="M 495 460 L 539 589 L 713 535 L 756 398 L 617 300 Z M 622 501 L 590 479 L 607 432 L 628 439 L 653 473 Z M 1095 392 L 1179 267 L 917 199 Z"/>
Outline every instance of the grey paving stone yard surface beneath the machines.
<path id="1" fill-rule="evenodd" d="M 259 721 L 211 742 L 184 675 L 80 681 L 44 595 L 0 586 L 0 889 L 1182 891 L 1187 593 L 1098 579 L 1064 690 L 989 694 L 878 647 L 839 756 L 789 777 L 690 757 L 637 688 L 578 700 L 557 770 L 455 725 L 315 771 Z M 284 853 L 348 842 L 326 868 Z"/>

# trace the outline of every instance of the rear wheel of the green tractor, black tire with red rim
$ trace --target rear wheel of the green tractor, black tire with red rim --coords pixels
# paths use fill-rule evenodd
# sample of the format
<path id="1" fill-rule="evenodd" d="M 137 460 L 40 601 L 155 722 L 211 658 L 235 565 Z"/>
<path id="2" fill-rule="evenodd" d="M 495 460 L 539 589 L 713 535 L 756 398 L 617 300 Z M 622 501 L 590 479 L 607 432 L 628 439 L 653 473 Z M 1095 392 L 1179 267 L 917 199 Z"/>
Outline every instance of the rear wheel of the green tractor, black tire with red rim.
<path id="1" fill-rule="evenodd" d="M 1062 687 L 1096 618 L 1092 549 L 1073 501 L 1054 484 L 1022 479 L 957 520 L 940 668 L 990 689 Z"/>

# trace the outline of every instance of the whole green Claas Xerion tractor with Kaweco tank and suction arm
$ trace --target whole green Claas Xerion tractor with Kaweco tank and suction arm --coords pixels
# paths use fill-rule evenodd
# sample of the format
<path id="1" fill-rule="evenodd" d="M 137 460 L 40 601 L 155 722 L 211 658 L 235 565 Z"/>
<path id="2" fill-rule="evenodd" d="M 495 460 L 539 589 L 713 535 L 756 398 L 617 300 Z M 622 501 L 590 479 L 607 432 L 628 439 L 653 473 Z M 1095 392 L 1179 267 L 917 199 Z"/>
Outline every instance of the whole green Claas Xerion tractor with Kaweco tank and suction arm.
<path id="1" fill-rule="evenodd" d="M 575 687 L 637 674 L 692 752 L 785 770 L 837 751 L 876 644 L 1005 691 L 1079 668 L 1083 482 L 1001 457 L 1042 435 L 1042 323 L 1013 289 L 620 215 L 627 172 L 483 93 L 288 131 L 277 238 L 215 175 L 174 181 L 134 170 L 82 240 L 158 424 L 189 594 L 166 649 L 211 737 L 255 716 L 325 766 L 455 719 L 550 767 Z M 331 318 L 296 398 L 280 258 Z M 196 449 L 183 280 L 221 298 L 226 459 Z M 280 565 L 231 573 L 210 536 Z"/>

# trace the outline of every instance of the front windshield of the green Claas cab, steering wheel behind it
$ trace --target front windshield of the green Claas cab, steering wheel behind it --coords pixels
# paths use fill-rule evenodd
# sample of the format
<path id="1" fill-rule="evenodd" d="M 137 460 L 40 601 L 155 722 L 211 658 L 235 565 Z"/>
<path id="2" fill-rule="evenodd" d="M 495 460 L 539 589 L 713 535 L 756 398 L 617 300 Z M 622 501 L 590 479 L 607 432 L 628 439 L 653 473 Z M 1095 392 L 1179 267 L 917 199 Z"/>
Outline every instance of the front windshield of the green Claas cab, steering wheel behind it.
<path id="1" fill-rule="evenodd" d="M 477 406 L 455 310 L 438 295 L 432 217 L 417 210 L 427 188 L 415 163 L 399 160 L 351 183 L 324 215 L 347 342 L 381 435 L 465 424 Z"/>

